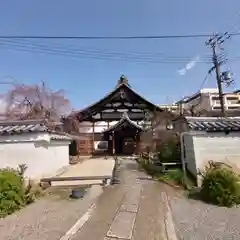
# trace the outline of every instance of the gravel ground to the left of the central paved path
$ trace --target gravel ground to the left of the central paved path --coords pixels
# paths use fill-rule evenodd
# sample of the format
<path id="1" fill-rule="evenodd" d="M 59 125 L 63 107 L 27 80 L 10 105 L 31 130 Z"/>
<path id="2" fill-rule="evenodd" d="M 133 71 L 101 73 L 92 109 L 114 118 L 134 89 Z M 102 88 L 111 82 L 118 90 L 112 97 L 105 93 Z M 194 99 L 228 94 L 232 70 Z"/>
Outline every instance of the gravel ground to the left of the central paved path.
<path id="1" fill-rule="evenodd" d="M 59 240 L 102 193 L 94 186 L 83 199 L 46 196 L 19 212 L 0 219 L 1 240 Z"/>

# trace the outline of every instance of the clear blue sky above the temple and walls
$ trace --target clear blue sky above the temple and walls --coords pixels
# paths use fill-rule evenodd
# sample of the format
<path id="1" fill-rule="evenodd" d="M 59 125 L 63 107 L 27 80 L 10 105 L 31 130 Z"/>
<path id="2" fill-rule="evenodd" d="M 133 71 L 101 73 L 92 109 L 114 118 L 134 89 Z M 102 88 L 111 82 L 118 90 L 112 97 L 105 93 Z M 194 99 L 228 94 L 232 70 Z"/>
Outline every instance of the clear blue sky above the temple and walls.
<path id="1" fill-rule="evenodd" d="M 237 21 L 240 32 L 240 1 L 192 0 L 3 0 L 0 3 L 0 35 L 184 35 L 224 32 Z M 44 80 L 53 89 L 65 89 L 75 108 L 81 108 L 108 93 L 121 74 L 139 93 L 154 103 L 170 103 L 197 91 L 211 64 L 204 62 L 210 49 L 200 39 L 165 40 L 31 40 L 35 44 L 61 45 L 84 50 L 78 57 L 23 52 L 0 43 L 0 80 Z M 231 69 L 240 87 L 239 37 L 225 44 Z M 99 59 L 99 51 L 127 55 L 123 60 Z M 91 58 L 89 58 L 91 52 Z M 138 57 L 159 56 L 171 63 L 137 62 Z M 129 55 L 133 56 L 129 59 Z M 154 56 L 153 56 L 154 55 Z M 112 55 L 111 55 L 112 56 Z M 194 68 L 178 70 L 199 56 Z M 180 59 L 181 58 L 181 59 Z M 177 59 L 173 63 L 172 59 Z M 180 60 L 179 60 L 180 59 Z M 204 87 L 215 87 L 210 76 Z M 4 90 L 4 89 L 2 89 Z"/>

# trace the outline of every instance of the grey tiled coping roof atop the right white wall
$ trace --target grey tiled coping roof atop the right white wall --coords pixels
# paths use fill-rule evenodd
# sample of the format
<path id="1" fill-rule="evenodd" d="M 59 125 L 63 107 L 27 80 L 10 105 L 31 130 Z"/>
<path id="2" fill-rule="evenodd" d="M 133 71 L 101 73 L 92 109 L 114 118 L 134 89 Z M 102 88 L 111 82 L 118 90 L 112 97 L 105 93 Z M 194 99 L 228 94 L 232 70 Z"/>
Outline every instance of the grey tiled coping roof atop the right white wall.
<path id="1" fill-rule="evenodd" d="M 190 130 L 194 131 L 240 131 L 240 117 L 186 117 Z"/>

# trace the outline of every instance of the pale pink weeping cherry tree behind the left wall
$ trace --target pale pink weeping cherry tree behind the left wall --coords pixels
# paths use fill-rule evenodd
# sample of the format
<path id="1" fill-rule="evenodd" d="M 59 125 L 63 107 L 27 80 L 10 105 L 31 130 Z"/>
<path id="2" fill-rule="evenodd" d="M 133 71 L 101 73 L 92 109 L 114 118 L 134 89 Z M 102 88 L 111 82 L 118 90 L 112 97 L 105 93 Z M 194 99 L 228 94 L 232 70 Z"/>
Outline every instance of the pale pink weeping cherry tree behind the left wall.
<path id="1" fill-rule="evenodd" d="M 45 119 L 49 126 L 59 125 L 72 112 L 70 100 L 64 90 L 53 91 L 44 81 L 40 84 L 21 84 L 16 81 L 2 82 L 9 90 L 0 95 L 4 102 L 1 116 L 7 120 Z M 66 125 L 68 131 L 77 131 L 78 121 L 71 117 Z"/>

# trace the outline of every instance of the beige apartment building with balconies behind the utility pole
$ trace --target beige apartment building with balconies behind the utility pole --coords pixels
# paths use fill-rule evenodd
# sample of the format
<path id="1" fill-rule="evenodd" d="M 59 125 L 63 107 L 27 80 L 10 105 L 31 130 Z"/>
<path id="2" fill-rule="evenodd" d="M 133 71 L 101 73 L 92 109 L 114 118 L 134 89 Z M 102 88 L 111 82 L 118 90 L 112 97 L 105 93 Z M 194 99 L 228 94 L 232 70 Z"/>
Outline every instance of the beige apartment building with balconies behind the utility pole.
<path id="1" fill-rule="evenodd" d="M 220 98 L 217 88 L 203 88 L 190 97 L 178 101 L 182 102 L 182 108 L 189 110 L 192 106 L 195 109 L 206 111 L 221 110 Z M 240 90 L 224 93 L 224 107 L 227 111 L 240 110 Z"/>

